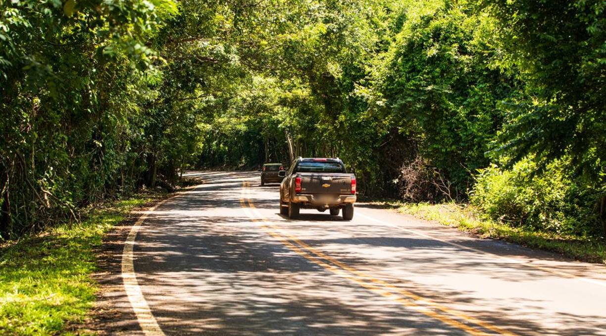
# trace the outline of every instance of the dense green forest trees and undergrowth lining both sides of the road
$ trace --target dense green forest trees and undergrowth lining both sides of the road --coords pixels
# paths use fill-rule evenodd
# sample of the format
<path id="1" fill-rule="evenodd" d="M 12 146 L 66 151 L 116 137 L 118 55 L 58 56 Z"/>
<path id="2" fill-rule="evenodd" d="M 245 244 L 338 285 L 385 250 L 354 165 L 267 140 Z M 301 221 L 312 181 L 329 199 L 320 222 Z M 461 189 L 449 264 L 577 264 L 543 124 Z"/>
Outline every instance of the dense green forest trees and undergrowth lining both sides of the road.
<path id="1" fill-rule="evenodd" d="M 365 195 L 602 234 L 605 10 L 0 0 L 1 237 L 188 165 L 298 155 L 341 157 Z"/>

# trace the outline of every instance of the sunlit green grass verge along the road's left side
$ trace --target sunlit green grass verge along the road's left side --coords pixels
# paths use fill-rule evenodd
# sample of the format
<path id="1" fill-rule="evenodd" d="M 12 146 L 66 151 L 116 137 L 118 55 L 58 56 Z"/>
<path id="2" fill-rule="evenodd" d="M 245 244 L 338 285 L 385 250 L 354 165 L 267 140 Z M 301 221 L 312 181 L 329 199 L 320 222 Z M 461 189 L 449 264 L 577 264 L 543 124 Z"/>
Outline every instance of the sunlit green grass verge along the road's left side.
<path id="1" fill-rule="evenodd" d="M 91 275 L 104 234 L 158 197 L 141 193 L 0 247 L 0 334 L 73 334 L 65 328 L 83 321 L 96 299 Z"/>

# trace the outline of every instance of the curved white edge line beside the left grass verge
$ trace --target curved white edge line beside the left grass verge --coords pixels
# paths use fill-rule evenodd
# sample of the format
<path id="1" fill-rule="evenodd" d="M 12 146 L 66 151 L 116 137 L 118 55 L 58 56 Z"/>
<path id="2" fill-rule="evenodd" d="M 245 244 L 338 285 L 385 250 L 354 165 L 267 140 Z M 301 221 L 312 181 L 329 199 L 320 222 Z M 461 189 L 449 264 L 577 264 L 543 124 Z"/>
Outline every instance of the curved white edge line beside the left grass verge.
<path id="1" fill-rule="evenodd" d="M 152 314 L 150 306 L 147 304 L 147 301 L 143 296 L 143 292 L 141 291 L 141 287 L 139 287 L 139 282 L 137 281 L 135 264 L 133 262 L 133 247 L 135 247 L 135 239 L 137 237 L 137 233 L 139 233 L 139 228 L 141 228 L 141 225 L 145 219 L 147 219 L 150 213 L 153 213 L 154 210 L 156 210 L 156 208 L 158 208 L 160 205 L 164 204 L 164 202 L 170 201 L 170 199 L 176 198 L 177 196 L 184 195 L 185 193 L 196 189 L 196 187 L 198 186 L 191 187 L 190 190 L 185 192 L 179 192 L 176 195 L 164 199 L 163 201 L 160 201 L 158 204 L 149 208 L 130 228 L 130 232 L 128 232 L 128 236 L 124 242 L 124 249 L 122 250 L 122 282 L 124 283 L 124 290 L 126 291 L 128 301 L 130 301 L 130 305 L 135 312 L 139 326 L 141 326 L 141 330 L 147 336 L 164 336 L 165 334 L 158 325 L 158 321 L 156 321 L 156 318 Z"/>

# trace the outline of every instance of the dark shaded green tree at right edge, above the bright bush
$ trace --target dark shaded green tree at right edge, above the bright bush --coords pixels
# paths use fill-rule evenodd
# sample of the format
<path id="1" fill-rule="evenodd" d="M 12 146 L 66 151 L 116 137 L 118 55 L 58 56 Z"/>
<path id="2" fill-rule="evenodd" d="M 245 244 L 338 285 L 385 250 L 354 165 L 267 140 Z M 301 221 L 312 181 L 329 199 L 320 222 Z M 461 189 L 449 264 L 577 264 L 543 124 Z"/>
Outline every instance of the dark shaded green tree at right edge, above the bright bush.
<path id="1" fill-rule="evenodd" d="M 606 4 L 604 1 L 485 2 L 498 20 L 501 66 L 519 73 L 494 150 L 511 165 L 556 159 L 594 190 L 606 233 Z"/>

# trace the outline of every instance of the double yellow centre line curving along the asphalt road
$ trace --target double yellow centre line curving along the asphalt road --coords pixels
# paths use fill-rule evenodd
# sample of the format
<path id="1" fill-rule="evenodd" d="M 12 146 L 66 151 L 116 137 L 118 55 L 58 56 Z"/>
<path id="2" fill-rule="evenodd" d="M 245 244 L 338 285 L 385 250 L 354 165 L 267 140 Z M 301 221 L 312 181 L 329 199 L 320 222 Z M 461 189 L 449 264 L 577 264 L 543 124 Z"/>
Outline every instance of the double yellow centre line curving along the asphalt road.
<path id="1" fill-rule="evenodd" d="M 250 183 L 248 181 L 242 182 L 242 193 L 240 198 L 240 205 L 245 209 L 247 215 L 253 222 L 259 223 L 259 225 L 267 231 L 268 234 L 275 237 L 278 241 L 285 245 L 285 247 L 298 253 L 310 262 L 321 266 L 325 270 L 337 274 L 338 276 L 344 277 L 351 282 L 357 283 L 358 285 L 380 294 L 381 296 L 388 297 L 395 300 L 398 303 L 411 308 L 415 311 L 421 312 L 428 317 L 435 318 L 436 320 L 442 321 L 447 325 L 453 326 L 458 329 L 462 329 L 471 335 L 490 335 L 491 331 L 500 335 L 516 335 L 513 332 L 506 331 L 497 326 L 491 325 L 484 321 L 478 320 L 478 318 L 471 317 L 462 312 L 455 311 L 447 308 L 439 303 L 432 302 L 429 299 L 418 296 L 410 291 L 407 291 L 397 286 L 391 285 L 391 283 L 385 282 L 381 279 L 376 279 L 370 274 L 364 273 L 351 267 L 333 257 L 327 256 L 316 248 L 299 241 L 296 237 L 291 236 L 288 233 L 284 233 L 275 225 L 272 225 L 267 219 L 263 218 L 261 213 L 255 208 L 255 204 L 251 201 L 249 195 Z M 250 213 L 247 209 L 250 208 Z M 481 327 L 481 328 L 478 328 Z M 482 329 L 485 329 L 483 331 Z"/>

